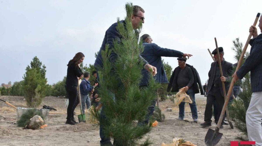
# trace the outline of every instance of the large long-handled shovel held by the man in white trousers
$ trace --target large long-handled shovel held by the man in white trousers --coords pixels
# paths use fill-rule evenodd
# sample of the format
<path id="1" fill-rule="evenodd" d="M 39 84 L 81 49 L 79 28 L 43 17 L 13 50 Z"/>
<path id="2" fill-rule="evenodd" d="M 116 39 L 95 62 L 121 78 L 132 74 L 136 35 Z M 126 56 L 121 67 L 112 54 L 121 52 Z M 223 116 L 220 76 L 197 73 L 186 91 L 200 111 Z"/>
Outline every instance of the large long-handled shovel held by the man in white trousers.
<path id="1" fill-rule="evenodd" d="M 255 22 L 254 22 L 254 24 L 253 24 L 254 26 L 256 26 L 256 23 L 257 23 L 257 21 L 258 21 L 258 19 L 259 19 L 259 16 L 260 16 L 260 13 L 257 13 Z M 248 38 L 247 38 L 247 42 L 246 42 L 246 44 L 245 44 L 245 46 L 244 46 L 244 48 L 243 48 L 243 50 L 242 50 L 240 59 L 239 59 L 239 61 L 238 61 L 239 63 L 238 63 L 238 65 L 237 65 L 236 71 L 238 71 L 238 69 L 239 69 L 239 67 L 240 67 L 240 65 L 241 65 L 241 62 L 243 61 L 243 57 L 244 57 L 245 52 L 246 52 L 246 50 L 247 50 L 247 46 L 248 46 L 248 44 L 249 44 L 249 41 L 250 41 L 250 39 L 251 39 L 252 34 L 253 34 L 253 32 L 250 32 L 250 33 L 249 33 L 249 36 L 248 36 Z M 214 145 L 216 145 L 216 144 L 219 142 L 219 140 L 222 138 L 223 133 L 219 133 L 219 127 L 220 127 L 220 125 L 221 125 L 221 123 L 222 123 L 222 120 L 223 120 L 223 117 L 224 117 L 224 114 L 225 114 L 225 111 L 226 111 L 226 107 L 227 107 L 227 104 L 228 104 L 228 102 L 229 102 L 229 97 L 230 97 L 231 92 L 232 92 L 232 90 L 233 90 L 234 84 L 235 84 L 235 83 L 234 83 L 234 80 L 232 79 L 231 84 L 230 84 L 230 87 L 229 87 L 229 90 L 228 90 L 228 93 L 227 93 L 227 98 L 226 98 L 226 100 L 225 100 L 225 103 L 224 103 L 222 112 L 221 112 L 221 114 L 220 114 L 220 117 L 219 117 L 219 120 L 218 120 L 216 129 L 215 129 L 215 130 L 212 130 L 212 129 L 209 128 L 209 129 L 208 129 L 208 132 L 206 133 L 205 143 L 206 143 L 207 146 L 214 146 Z"/>

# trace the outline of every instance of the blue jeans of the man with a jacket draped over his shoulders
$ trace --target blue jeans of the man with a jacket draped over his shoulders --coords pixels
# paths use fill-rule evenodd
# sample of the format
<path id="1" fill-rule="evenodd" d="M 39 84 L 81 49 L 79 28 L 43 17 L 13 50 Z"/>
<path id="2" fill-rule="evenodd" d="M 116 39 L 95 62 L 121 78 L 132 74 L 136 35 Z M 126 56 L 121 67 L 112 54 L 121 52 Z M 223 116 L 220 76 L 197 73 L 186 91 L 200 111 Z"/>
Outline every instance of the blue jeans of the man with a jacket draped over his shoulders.
<path id="1" fill-rule="evenodd" d="M 190 96 L 190 99 L 192 100 L 192 103 L 189 103 L 191 113 L 192 113 L 192 118 L 198 118 L 197 116 L 197 105 L 196 105 L 196 100 L 195 100 L 195 93 L 193 89 L 189 89 L 187 92 L 187 95 Z M 179 104 L 179 117 L 184 119 L 185 116 L 185 102 L 181 102 Z"/>

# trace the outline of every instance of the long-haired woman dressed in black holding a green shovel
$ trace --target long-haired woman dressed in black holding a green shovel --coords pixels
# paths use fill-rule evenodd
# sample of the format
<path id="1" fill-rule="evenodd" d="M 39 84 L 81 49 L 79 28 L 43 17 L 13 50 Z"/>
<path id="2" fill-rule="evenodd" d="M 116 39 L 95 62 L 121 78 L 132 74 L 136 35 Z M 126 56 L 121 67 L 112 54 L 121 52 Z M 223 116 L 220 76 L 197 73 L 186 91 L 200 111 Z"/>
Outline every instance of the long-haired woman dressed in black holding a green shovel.
<path id="1" fill-rule="evenodd" d="M 65 124 L 75 125 L 74 110 L 77 102 L 78 79 L 83 77 L 80 69 L 80 63 L 83 62 L 85 55 L 81 52 L 76 53 L 75 57 L 68 62 L 67 75 L 65 81 L 65 90 L 68 93 L 69 104 L 67 108 L 67 117 Z"/>

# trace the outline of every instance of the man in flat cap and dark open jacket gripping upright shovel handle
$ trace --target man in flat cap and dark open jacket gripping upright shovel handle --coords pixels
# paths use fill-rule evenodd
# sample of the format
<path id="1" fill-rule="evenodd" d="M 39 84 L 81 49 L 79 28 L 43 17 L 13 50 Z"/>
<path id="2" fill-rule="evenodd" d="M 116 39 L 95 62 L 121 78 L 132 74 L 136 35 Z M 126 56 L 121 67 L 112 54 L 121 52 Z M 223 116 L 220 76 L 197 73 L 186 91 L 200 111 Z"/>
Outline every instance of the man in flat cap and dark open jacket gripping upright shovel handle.
<path id="1" fill-rule="evenodd" d="M 224 92 L 223 92 L 223 86 L 222 82 L 225 84 L 226 93 L 229 90 L 230 85 L 230 76 L 233 73 L 233 64 L 230 62 L 227 62 L 224 60 L 224 50 L 222 47 L 218 48 L 219 53 L 217 53 L 217 50 L 215 49 L 212 54 L 214 54 L 215 62 L 211 63 L 211 68 L 208 72 L 208 85 L 207 85 L 207 98 L 206 98 L 206 109 L 205 109 L 205 117 L 204 117 L 204 123 L 200 124 L 203 127 L 211 126 L 211 118 L 212 118 L 212 105 L 214 102 L 215 105 L 217 105 L 217 114 L 215 117 L 215 123 L 217 124 L 222 108 L 224 106 Z M 222 66 L 222 72 L 223 77 L 220 75 L 220 69 L 219 69 L 219 58 L 221 61 Z M 224 121 L 224 119 L 223 119 Z M 222 125 L 220 128 L 223 128 L 224 122 L 222 122 Z"/>

